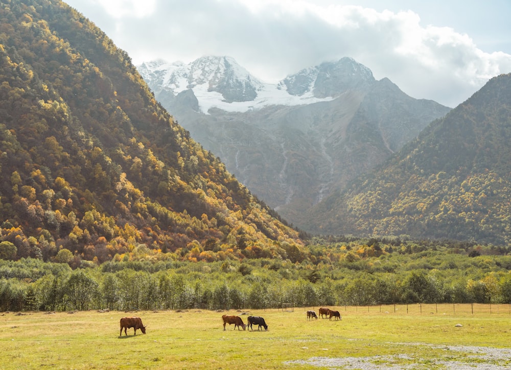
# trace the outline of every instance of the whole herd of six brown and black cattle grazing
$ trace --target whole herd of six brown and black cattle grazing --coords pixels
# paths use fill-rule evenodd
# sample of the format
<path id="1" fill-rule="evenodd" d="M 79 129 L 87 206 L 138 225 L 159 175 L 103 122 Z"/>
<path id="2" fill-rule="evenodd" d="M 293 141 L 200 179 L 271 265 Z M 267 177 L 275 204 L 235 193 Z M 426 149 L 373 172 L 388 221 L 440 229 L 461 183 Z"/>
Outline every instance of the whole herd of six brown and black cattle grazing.
<path id="1" fill-rule="evenodd" d="M 330 320 L 332 320 L 332 317 L 334 318 L 334 320 L 337 320 L 337 319 L 342 320 L 342 317 L 339 314 L 339 311 L 334 311 L 334 310 L 331 310 L 326 307 L 319 308 L 319 316 L 321 316 L 321 318 L 329 317 Z M 310 320 L 313 318 L 316 318 L 316 319 L 318 318 L 318 316 L 316 315 L 316 312 L 315 311 L 307 311 L 307 319 Z M 247 325 L 245 325 L 245 323 L 243 322 L 243 319 L 240 316 L 223 315 L 222 321 L 223 321 L 224 330 L 225 330 L 226 324 L 229 324 L 229 325 L 234 324 L 234 330 L 236 330 L 236 327 L 238 327 L 238 330 L 241 330 L 240 327 L 243 328 L 243 330 L 245 330 L 248 327 L 248 328 L 250 328 L 250 330 L 253 331 L 252 325 L 258 325 L 257 330 L 262 330 L 261 327 L 263 327 L 264 330 L 268 330 L 268 325 L 266 325 L 264 318 L 262 318 L 261 316 L 248 316 L 247 317 Z M 138 329 L 140 329 L 142 334 L 146 334 L 146 327 L 143 325 L 142 319 L 140 317 L 123 317 L 121 319 L 121 333 L 119 334 L 119 336 L 122 336 L 123 329 L 124 329 L 124 334 L 128 335 L 126 331 L 130 328 L 133 328 L 135 330 L 133 335 L 136 335 L 136 331 Z"/>

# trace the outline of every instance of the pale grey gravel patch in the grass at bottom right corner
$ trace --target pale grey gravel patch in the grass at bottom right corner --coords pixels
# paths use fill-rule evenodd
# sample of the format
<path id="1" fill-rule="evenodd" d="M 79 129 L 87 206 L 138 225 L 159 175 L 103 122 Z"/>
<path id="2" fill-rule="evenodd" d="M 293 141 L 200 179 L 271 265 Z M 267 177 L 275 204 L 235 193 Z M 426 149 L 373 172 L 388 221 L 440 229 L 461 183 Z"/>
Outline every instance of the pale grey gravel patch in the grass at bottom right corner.
<path id="1" fill-rule="evenodd" d="M 289 365 L 309 365 L 327 367 L 331 369 L 346 370 L 401 370 L 401 369 L 428 369 L 446 368 L 452 370 L 503 370 L 510 369 L 511 365 L 501 363 L 511 359 L 511 349 L 479 347 L 469 345 L 432 345 L 425 343 L 402 343 L 407 345 L 422 345 L 445 350 L 446 355 L 453 357 L 464 355 L 464 360 L 432 360 L 413 358 L 409 355 L 396 356 L 367 356 L 367 357 L 311 357 L 308 360 L 286 361 Z M 413 362 L 413 363 L 410 363 Z"/>

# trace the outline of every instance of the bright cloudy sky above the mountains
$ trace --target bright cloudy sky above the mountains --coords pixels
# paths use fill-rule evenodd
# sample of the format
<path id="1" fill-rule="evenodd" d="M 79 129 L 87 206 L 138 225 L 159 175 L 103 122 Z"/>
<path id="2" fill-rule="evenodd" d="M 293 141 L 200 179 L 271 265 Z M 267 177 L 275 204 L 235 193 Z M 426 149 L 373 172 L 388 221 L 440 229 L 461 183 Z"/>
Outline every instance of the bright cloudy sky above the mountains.
<path id="1" fill-rule="evenodd" d="M 455 107 L 511 73 L 511 1 L 64 0 L 135 65 L 230 56 L 277 82 L 351 57 L 409 96 Z"/>

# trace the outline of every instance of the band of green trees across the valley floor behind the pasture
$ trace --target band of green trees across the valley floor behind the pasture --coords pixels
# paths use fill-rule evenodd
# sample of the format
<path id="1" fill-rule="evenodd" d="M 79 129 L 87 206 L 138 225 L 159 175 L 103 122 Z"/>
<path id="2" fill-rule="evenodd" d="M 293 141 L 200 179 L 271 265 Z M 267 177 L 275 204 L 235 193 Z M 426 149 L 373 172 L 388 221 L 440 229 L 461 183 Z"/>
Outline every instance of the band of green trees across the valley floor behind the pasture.
<path id="1" fill-rule="evenodd" d="M 508 256 L 443 255 L 396 253 L 394 261 L 380 257 L 335 266 L 271 259 L 110 261 L 74 270 L 32 258 L 0 260 L 0 311 L 511 304 Z M 471 265 L 460 270 L 469 260 Z M 374 267 L 378 261 L 383 266 Z M 432 268 L 435 264 L 438 268 Z"/>

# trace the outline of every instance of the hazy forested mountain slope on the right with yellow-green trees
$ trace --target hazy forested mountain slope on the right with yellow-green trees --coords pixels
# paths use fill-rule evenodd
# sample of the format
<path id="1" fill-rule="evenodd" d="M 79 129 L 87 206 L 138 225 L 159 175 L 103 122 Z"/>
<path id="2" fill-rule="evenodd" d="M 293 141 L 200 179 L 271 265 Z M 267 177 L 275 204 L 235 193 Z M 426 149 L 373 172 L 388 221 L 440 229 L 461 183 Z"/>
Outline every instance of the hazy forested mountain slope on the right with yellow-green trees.
<path id="1" fill-rule="evenodd" d="M 510 143 L 508 74 L 433 122 L 380 170 L 319 204 L 312 222 L 327 234 L 509 243 Z"/>

